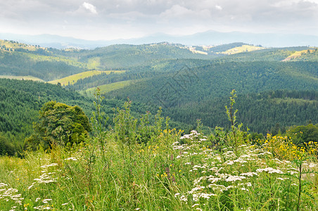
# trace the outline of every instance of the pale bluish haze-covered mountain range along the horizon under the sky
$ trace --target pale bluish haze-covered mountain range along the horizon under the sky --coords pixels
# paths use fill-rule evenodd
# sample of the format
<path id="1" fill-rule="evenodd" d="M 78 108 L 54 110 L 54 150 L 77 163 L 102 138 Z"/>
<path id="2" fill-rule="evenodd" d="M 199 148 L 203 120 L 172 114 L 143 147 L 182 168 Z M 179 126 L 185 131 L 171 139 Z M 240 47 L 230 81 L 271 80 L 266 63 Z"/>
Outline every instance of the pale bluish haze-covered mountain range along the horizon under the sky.
<path id="1" fill-rule="evenodd" d="M 114 40 L 85 40 L 73 37 L 61 37 L 54 34 L 8 34 L 0 33 L 0 39 L 15 40 L 26 44 L 40 45 L 56 49 L 78 48 L 95 49 L 112 44 L 151 44 L 162 41 L 189 46 L 220 45 L 233 42 L 243 42 L 266 47 L 286 46 L 318 46 L 318 36 L 308 34 L 274 34 L 248 32 L 216 32 L 207 31 L 191 35 L 170 35 L 164 33 L 151 34 L 146 37 Z"/>

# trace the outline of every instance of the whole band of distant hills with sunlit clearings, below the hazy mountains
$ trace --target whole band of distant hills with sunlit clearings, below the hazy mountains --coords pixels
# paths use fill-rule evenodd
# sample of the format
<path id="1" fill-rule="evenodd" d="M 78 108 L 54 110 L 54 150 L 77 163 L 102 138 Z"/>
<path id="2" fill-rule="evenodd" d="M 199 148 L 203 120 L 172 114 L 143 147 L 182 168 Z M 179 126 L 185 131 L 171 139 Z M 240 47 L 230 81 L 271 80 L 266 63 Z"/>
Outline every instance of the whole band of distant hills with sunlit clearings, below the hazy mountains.
<path id="1" fill-rule="evenodd" d="M 284 60 L 295 51 L 308 47 L 264 49 L 243 43 L 221 46 L 184 46 L 167 42 L 158 44 L 117 44 L 94 50 L 47 49 L 20 44 L 17 41 L 0 40 L 0 75 L 38 77 L 44 81 L 61 79 L 87 70 L 129 70 L 131 72 L 162 71 L 167 63 L 189 64 L 187 60 L 212 60 L 221 62 Z M 317 53 L 317 52 L 316 52 Z M 301 60 L 297 58 L 297 60 Z M 314 53 L 304 58 L 314 61 Z M 224 60 L 225 59 L 225 60 Z M 75 84 L 76 86 L 76 84 Z"/>

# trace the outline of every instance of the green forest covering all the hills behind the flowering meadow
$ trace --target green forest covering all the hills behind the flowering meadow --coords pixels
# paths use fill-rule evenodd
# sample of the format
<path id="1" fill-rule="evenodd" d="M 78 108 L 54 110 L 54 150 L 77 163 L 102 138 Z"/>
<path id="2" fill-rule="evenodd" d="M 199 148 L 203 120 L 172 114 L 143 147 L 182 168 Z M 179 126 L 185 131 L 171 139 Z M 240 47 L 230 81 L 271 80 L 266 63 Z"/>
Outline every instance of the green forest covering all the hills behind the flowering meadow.
<path id="1" fill-rule="evenodd" d="M 7 145 L 14 152 L 22 151 L 44 103 L 79 106 L 90 118 L 94 96 L 91 91 L 88 96 L 85 90 L 128 81 L 122 88 L 101 92 L 106 98 L 103 111 L 110 117 L 110 127 L 113 110 L 129 97 L 136 117 L 146 111 L 155 114 L 162 107 L 163 115 L 170 117 L 170 124 L 177 129 L 195 129 L 197 120 L 206 132 L 216 126 L 229 129 L 224 106 L 232 89 L 239 96 L 238 120 L 250 133 L 286 132 L 293 125 L 317 124 L 317 49 L 298 46 L 222 54 L 243 45 L 192 47 L 206 53 L 201 54 L 182 44 L 166 42 L 58 50 L 1 41 L 0 75 L 4 76 L 30 75 L 49 81 L 87 70 L 125 70 L 85 77 L 65 87 L 0 79 L 1 140 L 10 143 Z M 298 51 L 305 53 L 282 62 Z"/>

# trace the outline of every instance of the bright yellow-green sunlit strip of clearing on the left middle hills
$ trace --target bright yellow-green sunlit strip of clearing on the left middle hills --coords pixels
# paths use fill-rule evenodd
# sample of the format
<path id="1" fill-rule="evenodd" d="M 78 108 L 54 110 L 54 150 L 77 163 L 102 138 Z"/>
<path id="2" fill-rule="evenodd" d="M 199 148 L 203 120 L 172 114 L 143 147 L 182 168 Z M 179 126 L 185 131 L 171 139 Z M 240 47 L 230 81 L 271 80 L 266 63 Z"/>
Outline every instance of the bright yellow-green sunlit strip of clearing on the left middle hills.
<path id="1" fill-rule="evenodd" d="M 49 82 L 50 84 L 58 84 L 58 82 L 61 83 L 62 86 L 68 85 L 68 84 L 74 84 L 77 82 L 79 79 L 84 79 L 85 77 L 91 77 L 93 75 L 101 75 L 101 74 L 110 74 L 111 72 L 113 73 L 123 73 L 125 70 L 91 70 L 87 72 L 80 72 L 75 75 L 70 75 L 68 77 L 63 77 L 61 79 L 53 80 Z"/>

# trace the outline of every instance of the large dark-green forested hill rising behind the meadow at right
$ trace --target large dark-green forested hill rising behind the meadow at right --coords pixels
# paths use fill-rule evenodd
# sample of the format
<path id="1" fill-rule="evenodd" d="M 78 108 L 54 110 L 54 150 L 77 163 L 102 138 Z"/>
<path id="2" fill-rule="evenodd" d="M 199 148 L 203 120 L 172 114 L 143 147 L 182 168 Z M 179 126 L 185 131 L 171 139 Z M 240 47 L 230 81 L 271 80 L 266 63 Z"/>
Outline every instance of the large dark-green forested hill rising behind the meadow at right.
<path id="1" fill-rule="evenodd" d="M 108 95 L 129 96 L 135 101 L 162 103 L 170 108 L 227 96 L 231 89 L 240 94 L 276 89 L 318 90 L 318 65 L 312 62 L 228 62 L 184 67 Z"/>

